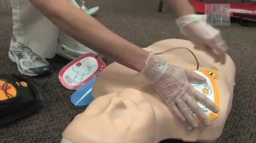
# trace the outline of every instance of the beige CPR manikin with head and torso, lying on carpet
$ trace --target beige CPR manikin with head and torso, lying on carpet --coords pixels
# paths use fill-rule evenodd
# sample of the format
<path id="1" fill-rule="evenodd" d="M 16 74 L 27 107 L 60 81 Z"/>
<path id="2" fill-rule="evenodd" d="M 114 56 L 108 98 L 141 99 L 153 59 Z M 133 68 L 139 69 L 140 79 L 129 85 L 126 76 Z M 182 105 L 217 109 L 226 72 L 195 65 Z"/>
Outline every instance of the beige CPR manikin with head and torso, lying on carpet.
<path id="1" fill-rule="evenodd" d="M 185 141 L 212 141 L 218 139 L 224 129 L 232 104 L 236 67 L 226 55 L 224 64 L 189 41 L 170 39 L 154 43 L 147 51 L 157 54 L 173 66 L 195 70 L 215 71 L 219 112 L 212 123 L 190 129 L 173 117 L 164 101 L 154 92 L 148 81 L 118 63 L 108 66 L 98 77 L 93 95 L 96 98 L 87 109 L 73 119 L 63 133 L 62 142 L 73 143 L 157 143 L 166 139 Z M 187 48 L 187 49 L 184 49 Z M 172 49 L 172 51 L 170 50 Z M 169 51 L 167 51 L 169 50 Z M 208 92 L 208 91 L 206 91 Z"/>

